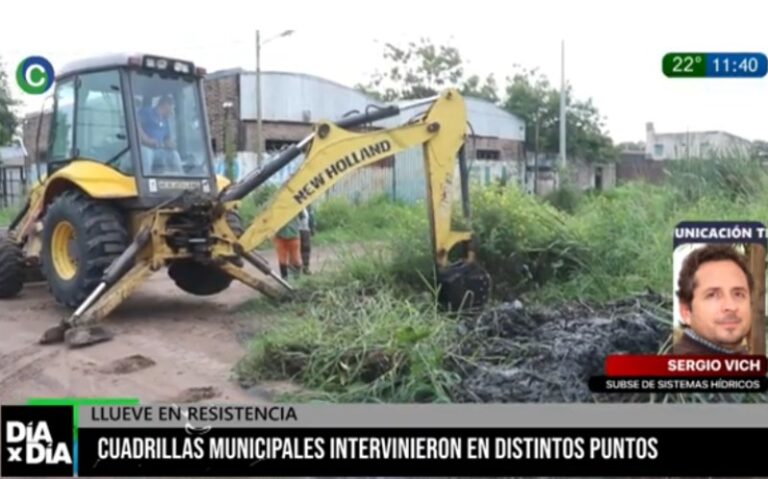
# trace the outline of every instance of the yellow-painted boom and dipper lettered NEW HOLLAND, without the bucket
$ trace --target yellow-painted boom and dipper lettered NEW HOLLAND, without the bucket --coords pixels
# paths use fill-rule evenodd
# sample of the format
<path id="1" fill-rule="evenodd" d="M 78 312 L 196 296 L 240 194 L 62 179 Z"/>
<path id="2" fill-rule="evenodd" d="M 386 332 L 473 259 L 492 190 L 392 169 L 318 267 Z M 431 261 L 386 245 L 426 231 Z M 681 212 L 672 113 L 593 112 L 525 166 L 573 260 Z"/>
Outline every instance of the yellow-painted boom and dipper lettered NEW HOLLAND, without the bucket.
<path id="1" fill-rule="evenodd" d="M 465 128 L 464 104 L 455 92 L 438 98 L 421 120 L 395 128 L 359 133 L 319 124 L 305 160 L 240 237 L 240 245 L 246 251 L 255 249 L 359 168 L 422 146 L 435 259 L 446 265 L 447 252 L 470 239 L 469 233 L 451 230 L 455 159 L 464 144 Z"/>

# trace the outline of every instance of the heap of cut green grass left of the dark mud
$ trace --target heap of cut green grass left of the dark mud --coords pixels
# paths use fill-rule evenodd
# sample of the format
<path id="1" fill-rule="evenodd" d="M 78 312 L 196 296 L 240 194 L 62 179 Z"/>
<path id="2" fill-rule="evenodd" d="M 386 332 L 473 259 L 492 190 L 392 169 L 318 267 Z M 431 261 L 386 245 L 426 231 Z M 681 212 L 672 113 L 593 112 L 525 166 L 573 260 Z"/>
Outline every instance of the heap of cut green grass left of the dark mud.
<path id="1" fill-rule="evenodd" d="M 447 402 L 456 377 L 443 369 L 451 325 L 436 305 L 352 282 L 325 284 L 283 308 L 237 372 L 246 383 L 292 378 L 299 399 L 337 402 Z"/>

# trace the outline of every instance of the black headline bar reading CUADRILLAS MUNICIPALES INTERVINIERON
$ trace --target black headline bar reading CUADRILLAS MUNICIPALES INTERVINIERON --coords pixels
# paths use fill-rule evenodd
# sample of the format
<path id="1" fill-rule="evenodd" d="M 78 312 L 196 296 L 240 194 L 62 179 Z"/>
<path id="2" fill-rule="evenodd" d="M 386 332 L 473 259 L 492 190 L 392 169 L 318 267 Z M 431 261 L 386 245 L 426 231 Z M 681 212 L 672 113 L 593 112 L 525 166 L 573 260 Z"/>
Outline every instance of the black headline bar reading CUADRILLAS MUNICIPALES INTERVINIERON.
<path id="1" fill-rule="evenodd" d="M 80 476 L 757 475 L 768 429 L 83 428 Z M 724 440 L 738 437 L 740 440 Z M 723 458 L 736 458 L 725 461 Z"/>

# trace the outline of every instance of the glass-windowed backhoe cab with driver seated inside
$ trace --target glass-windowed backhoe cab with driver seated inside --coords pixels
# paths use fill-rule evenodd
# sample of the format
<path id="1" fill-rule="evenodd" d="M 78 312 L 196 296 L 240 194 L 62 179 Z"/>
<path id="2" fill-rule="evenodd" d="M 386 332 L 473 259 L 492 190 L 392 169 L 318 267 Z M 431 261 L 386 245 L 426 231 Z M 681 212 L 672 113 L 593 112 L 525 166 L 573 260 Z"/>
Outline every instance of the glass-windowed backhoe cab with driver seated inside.
<path id="1" fill-rule="evenodd" d="M 215 193 L 204 75 L 191 62 L 149 55 L 66 66 L 54 92 L 48 174 L 95 162 L 135 178 L 142 199 Z"/>

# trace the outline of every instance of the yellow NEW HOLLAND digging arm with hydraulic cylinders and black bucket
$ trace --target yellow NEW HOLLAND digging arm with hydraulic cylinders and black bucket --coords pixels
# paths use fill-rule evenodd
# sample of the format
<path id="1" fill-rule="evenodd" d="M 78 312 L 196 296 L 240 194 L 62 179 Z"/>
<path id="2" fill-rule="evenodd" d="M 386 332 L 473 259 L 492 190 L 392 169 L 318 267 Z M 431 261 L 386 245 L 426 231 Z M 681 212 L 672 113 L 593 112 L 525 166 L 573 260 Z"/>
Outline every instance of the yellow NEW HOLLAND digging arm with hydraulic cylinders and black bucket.
<path id="1" fill-rule="evenodd" d="M 484 303 L 490 279 L 474 262 L 472 234 L 451 228 L 454 175 L 467 125 L 464 101 L 457 91 L 447 90 L 434 99 L 417 102 L 411 107 L 424 105 L 428 105 L 428 109 L 418 120 L 382 130 L 355 132 L 349 127 L 397 115 L 400 109 L 389 107 L 335 124 L 321 122 L 308 138 L 282 152 L 264 170 L 254 172 L 225 190 L 222 194 L 225 201 L 242 199 L 301 153 L 305 155 L 302 164 L 278 190 L 272 202 L 240 236 L 238 249 L 249 252 L 257 248 L 303 208 L 359 168 L 403 150 L 421 147 L 432 250 L 441 283 L 441 299 L 454 308 Z M 463 168 L 461 171 L 465 180 Z M 466 188 L 462 188 L 462 192 L 466 194 Z M 466 205 L 468 199 L 463 200 Z M 464 258 L 450 264 L 448 254 L 459 244 L 465 246 Z"/>

